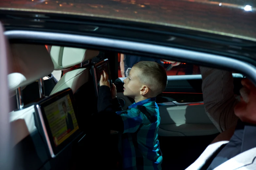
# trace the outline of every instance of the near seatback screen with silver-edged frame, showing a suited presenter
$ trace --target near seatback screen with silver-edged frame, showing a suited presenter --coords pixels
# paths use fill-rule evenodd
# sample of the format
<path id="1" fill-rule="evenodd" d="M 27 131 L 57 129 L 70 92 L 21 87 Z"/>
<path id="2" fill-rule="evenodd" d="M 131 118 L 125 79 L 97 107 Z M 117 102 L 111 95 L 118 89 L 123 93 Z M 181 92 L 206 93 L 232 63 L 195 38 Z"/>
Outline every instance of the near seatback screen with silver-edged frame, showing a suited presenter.
<path id="1" fill-rule="evenodd" d="M 77 107 L 70 88 L 41 100 L 35 107 L 36 126 L 52 158 L 83 133 L 78 127 Z"/>

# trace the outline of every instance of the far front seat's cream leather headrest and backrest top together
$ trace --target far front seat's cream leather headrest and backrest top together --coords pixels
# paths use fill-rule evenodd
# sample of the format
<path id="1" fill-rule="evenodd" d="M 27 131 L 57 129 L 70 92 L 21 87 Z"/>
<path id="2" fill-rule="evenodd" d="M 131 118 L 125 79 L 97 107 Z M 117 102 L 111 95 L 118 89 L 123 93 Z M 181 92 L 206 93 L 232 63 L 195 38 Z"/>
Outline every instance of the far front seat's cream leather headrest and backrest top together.
<path id="1" fill-rule="evenodd" d="M 66 70 L 96 57 L 99 51 L 52 46 L 50 54 L 54 64 L 54 70 Z M 88 77 L 89 69 L 87 68 L 78 68 L 69 71 L 60 78 L 50 95 L 68 87 L 75 93 L 82 85 L 88 82 Z"/>

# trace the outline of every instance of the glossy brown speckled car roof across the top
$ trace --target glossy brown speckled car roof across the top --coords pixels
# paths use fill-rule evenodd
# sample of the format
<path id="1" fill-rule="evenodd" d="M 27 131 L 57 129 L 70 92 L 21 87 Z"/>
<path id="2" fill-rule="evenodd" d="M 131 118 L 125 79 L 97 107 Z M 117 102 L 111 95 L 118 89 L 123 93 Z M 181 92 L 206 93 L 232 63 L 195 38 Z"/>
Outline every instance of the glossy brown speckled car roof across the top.
<path id="1" fill-rule="evenodd" d="M 204 0 L 1 1 L 0 10 L 135 21 L 256 41 L 256 2 Z"/>

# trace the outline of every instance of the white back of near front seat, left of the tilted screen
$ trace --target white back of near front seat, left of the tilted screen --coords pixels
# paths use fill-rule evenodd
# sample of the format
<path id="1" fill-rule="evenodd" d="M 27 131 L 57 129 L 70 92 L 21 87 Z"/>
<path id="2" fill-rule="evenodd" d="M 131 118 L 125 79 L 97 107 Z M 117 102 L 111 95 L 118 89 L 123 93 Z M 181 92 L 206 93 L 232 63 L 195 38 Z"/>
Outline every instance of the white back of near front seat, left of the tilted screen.
<path id="1" fill-rule="evenodd" d="M 27 135 L 36 131 L 34 112 L 35 108 L 34 105 L 32 105 L 22 110 L 9 113 L 13 146 L 19 143 Z"/>

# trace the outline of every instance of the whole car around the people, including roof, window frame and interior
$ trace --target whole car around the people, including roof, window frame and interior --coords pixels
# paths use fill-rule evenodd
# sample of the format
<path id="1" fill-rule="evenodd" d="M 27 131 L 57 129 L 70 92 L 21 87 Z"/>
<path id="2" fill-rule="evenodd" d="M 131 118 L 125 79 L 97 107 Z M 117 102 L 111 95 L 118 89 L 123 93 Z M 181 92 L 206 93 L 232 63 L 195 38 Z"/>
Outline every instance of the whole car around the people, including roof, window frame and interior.
<path id="1" fill-rule="evenodd" d="M 238 98 L 242 78 L 256 85 L 254 3 L 2 0 L 0 169 L 100 169 L 84 159 L 99 74 L 108 72 L 127 109 L 131 66 L 121 58 L 135 56 L 166 69 L 156 97 L 162 169 L 184 170 L 220 134 L 204 108 L 199 67 L 232 72 Z"/>

